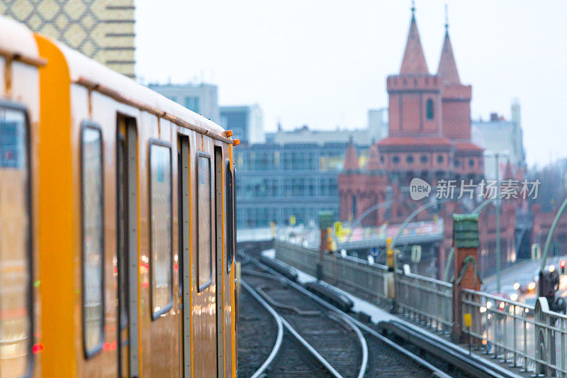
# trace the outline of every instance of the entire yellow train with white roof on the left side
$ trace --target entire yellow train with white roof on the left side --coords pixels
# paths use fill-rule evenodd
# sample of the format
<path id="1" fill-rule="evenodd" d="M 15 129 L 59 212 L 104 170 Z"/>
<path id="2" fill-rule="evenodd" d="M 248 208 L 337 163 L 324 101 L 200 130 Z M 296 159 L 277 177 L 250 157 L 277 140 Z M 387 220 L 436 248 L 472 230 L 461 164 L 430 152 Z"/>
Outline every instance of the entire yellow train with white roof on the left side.
<path id="1" fill-rule="evenodd" d="M 0 18 L 0 376 L 235 377 L 230 131 Z"/>

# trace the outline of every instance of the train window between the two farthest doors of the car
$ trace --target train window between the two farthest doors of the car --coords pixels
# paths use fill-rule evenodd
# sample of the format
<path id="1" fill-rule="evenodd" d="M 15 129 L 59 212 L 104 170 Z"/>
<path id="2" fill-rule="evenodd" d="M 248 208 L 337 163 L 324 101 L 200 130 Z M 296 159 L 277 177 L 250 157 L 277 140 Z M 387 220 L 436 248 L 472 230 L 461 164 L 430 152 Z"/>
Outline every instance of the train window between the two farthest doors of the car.
<path id="1" fill-rule="evenodd" d="M 213 188 L 210 184 L 210 155 L 198 152 L 197 158 L 197 277 L 199 291 L 213 282 L 212 245 L 213 225 L 210 214 L 213 204 Z M 202 229 L 201 229 L 202 228 Z"/>

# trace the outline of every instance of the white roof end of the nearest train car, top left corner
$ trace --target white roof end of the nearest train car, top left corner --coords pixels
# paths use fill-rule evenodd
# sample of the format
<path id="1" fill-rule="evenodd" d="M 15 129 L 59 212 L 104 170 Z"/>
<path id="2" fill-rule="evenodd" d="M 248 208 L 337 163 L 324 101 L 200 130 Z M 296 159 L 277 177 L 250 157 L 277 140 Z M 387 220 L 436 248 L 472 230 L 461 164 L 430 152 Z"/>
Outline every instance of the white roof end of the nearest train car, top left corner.
<path id="1" fill-rule="evenodd" d="M 40 60 L 32 31 L 22 23 L 5 16 L 0 16 L 0 49 L 4 54 Z"/>

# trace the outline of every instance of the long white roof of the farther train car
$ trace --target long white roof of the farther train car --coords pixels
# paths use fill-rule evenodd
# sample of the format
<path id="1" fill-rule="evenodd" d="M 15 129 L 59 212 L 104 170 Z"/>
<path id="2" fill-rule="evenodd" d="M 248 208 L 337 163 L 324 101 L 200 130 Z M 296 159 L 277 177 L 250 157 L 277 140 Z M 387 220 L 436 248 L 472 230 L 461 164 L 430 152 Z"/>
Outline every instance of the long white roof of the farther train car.
<path id="1" fill-rule="evenodd" d="M 175 101 L 152 91 L 152 89 L 137 84 L 133 79 L 111 70 L 62 43 L 54 43 L 60 48 L 67 60 L 71 82 L 77 83 L 86 80 L 87 82 L 95 83 L 101 87 L 111 89 L 111 91 L 125 98 L 132 99 L 140 104 L 145 104 L 146 106 L 179 118 L 181 121 L 189 123 L 192 126 L 205 128 L 224 137 L 223 132 L 225 130 L 208 118 L 186 109 Z"/>

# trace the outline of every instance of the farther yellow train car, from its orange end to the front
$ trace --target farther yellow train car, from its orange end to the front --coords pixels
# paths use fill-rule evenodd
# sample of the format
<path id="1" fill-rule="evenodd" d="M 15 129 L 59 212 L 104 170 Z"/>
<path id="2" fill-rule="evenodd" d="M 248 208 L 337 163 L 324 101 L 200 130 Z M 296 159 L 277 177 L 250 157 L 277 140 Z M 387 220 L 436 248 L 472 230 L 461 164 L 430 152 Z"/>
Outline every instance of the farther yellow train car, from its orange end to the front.
<path id="1" fill-rule="evenodd" d="M 38 35 L 35 40 L 50 62 L 40 74 L 38 131 L 38 287 L 40 295 L 50 299 L 41 301 L 41 311 L 47 314 L 38 327 L 44 348 L 41 374 L 106 377 L 122 369 L 125 376 L 130 360 L 120 358 L 119 352 L 128 353 L 130 345 L 140 376 L 183 376 L 181 316 L 186 310 L 191 313 L 191 375 L 234 377 L 234 266 L 227 255 L 226 192 L 232 147 L 220 135 L 211 138 L 197 131 L 205 131 L 208 124 L 193 113 L 187 116 L 198 121 L 197 126 L 189 128 L 176 124 L 187 121 L 165 119 L 167 113 L 152 106 L 171 106 L 177 117 L 186 110 L 129 81 L 120 96 L 100 90 L 98 84 L 82 83 L 83 78 L 73 74 L 80 65 L 98 79 L 105 79 L 104 72 L 109 78 L 115 74 L 85 57 L 69 55 L 48 38 Z M 137 95 L 150 101 L 148 105 L 125 100 Z M 136 139 L 138 269 L 133 311 L 138 325 L 132 333 L 137 336 L 130 339 L 135 345 L 120 345 L 118 336 L 119 330 L 120 337 L 124 335 L 118 289 L 118 232 L 123 222 L 117 211 L 118 147 L 123 138 L 118 130 L 124 117 L 135 123 Z M 218 133 L 218 126 L 210 127 Z M 189 228 L 190 263 L 182 268 L 191 274 L 191 285 L 190 306 L 183 310 L 178 134 L 189 140 L 190 216 L 184 227 Z M 215 146 L 222 155 L 215 155 Z"/>

